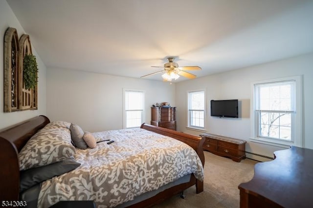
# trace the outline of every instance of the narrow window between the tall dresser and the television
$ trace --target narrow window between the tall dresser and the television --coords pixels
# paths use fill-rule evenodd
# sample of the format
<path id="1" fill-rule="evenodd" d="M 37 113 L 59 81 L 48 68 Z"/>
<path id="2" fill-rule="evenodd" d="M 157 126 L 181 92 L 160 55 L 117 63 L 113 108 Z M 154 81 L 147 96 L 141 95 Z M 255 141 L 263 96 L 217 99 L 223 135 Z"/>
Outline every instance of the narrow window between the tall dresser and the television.
<path id="1" fill-rule="evenodd" d="M 204 90 L 188 92 L 188 127 L 204 128 Z"/>

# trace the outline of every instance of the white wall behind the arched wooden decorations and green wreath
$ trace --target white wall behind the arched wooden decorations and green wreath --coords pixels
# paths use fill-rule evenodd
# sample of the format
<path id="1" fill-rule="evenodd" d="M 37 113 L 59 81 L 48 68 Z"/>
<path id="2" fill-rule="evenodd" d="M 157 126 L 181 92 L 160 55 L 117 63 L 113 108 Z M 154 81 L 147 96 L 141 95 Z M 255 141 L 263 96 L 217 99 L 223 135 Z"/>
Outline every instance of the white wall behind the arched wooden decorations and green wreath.
<path id="1" fill-rule="evenodd" d="M 22 34 L 25 34 L 20 22 L 17 20 L 16 16 L 12 12 L 11 8 L 7 4 L 5 0 L 0 0 L 0 34 L 1 34 L 1 41 L 0 41 L 0 129 L 8 127 L 10 125 L 14 125 L 16 123 L 20 123 L 24 120 L 33 118 L 37 115 L 45 115 L 45 65 L 41 61 L 40 57 L 35 51 L 35 48 L 32 46 L 33 54 L 37 58 L 38 63 L 38 110 L 25 110 L 19 112 L 11 112 L 11 113 L 4 113 L 4 95 L 3 95 L 3 48 L 4 48 L 4 34 L 8 27 L 16 28 L 18 31 L 19 38 Z M 30 35 L 30 42 L 32 40 L 32 36 Z"/>

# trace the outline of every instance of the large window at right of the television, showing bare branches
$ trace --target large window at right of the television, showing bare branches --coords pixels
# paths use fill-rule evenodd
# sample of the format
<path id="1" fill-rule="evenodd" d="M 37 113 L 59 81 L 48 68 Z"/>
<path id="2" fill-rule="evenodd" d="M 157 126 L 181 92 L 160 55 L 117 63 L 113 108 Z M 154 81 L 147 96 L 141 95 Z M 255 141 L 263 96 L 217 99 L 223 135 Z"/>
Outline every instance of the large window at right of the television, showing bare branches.
<path id="1" fill-rule="evenodd" d="M 301 146 L 301 79 L 253 83 L 252 141 Z"/>

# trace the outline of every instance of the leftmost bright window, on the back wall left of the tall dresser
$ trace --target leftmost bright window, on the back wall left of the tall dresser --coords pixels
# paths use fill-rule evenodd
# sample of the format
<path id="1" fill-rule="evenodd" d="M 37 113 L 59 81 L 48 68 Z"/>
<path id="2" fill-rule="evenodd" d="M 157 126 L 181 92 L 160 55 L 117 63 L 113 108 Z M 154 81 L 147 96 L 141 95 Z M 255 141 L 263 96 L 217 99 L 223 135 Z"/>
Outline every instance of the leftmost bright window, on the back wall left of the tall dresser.
<path id="1" fill-rule="evenodd" d="M 144 123 L 144 91 L 124 90 L 124 128 L 140 127 Z"/>

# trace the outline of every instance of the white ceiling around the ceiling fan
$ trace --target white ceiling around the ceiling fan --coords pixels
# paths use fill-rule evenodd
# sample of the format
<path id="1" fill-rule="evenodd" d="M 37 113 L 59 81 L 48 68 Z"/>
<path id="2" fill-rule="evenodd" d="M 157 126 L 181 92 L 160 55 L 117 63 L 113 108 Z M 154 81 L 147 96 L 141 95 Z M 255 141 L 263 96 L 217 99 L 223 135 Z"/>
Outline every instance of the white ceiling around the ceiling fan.
<path id="1" fill-rule="evenodd" d="M 139 78 L 176 56 L 201 77 L 313 52 L 313 0 L 7 2 L 52 68 Z"/>

